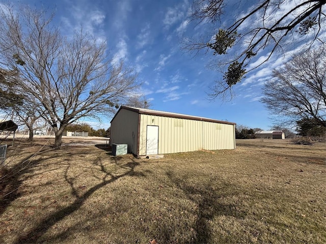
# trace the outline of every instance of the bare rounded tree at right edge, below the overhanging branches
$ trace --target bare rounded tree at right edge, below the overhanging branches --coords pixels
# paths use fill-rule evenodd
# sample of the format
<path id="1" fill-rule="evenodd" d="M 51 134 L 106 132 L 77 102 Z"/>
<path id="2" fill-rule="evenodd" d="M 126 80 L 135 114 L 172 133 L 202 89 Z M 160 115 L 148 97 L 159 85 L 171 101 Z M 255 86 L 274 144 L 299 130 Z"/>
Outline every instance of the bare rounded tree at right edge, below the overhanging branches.
<path id="1" fill-rule="evenodd" d="M 271 114 L 289 124 L 314 118 L 326 127 L 326 47 L 294 55 L 273 74 L 261 100 Z"/>

